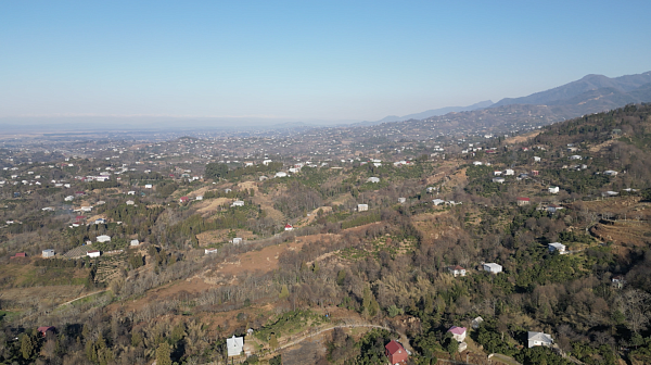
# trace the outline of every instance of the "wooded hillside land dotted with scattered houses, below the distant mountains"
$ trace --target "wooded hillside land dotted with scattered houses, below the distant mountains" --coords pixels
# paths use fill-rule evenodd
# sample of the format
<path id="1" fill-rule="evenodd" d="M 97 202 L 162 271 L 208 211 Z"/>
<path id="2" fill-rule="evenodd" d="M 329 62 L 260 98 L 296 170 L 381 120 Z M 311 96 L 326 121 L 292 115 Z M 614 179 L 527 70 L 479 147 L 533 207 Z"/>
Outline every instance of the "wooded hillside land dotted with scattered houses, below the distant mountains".
<path id="1" fill-rule="evenodd" d="M 461 117 L 1 139 L 0 363 L 650 363 L 651 105 Z"/>

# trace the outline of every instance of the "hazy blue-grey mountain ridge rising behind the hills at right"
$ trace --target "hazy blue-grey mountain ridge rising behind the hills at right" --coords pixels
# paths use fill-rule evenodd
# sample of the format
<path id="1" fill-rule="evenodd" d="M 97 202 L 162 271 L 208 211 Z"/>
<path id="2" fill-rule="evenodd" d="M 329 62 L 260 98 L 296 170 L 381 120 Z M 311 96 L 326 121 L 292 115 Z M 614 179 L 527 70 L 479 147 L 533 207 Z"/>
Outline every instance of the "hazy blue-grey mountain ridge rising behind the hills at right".
<path id="1" fill-rule="evenodd" d="M 558 117 L 566 118 L 639 102 L 651 102 L 651 72 L 614 78 L 603 75 L 587 75 L 576 81 L 527 97 L 505 98 L 496 103 L 487 100 L 469 106 L 448 106 L 405 116 L 390 115 L 376 122 L 360 124 L 425 119 L 448 113 L 481 111 L 507 105 L 535 105 L 535 110 L 538 110 L 539 106 L 548 106 L 551 114 L 556 111 Z M 553 115 L 550 117 L 558 119 Z"/>

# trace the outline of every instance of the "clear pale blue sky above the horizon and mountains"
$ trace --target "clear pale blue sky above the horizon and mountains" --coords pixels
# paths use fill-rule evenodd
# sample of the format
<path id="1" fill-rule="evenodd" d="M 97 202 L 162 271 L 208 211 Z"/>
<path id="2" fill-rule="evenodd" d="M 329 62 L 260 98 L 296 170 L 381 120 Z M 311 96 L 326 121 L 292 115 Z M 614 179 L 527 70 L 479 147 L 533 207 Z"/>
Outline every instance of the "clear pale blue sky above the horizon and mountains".
<path id="1" fill-rule="evenodd" d="M 2 1 L 0 117 L 379 119 L 651 71 L 651 1 Z"/>

